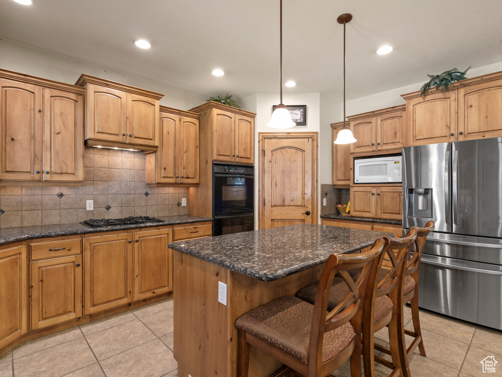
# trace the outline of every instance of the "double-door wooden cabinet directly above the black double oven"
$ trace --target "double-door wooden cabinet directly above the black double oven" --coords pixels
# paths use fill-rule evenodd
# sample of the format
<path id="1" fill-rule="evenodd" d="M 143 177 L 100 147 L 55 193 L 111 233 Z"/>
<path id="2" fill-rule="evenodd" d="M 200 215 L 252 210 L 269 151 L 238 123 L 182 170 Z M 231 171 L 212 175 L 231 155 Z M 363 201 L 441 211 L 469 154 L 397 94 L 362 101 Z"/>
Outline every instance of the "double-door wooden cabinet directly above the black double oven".
<path id="1" fill-rule="evenodd" d="M 255 116 L 244 110 L 208 102 L 190 110 L 200 114 L 204 150 L 212 161 L 253 164 L 255 162 Z"/>

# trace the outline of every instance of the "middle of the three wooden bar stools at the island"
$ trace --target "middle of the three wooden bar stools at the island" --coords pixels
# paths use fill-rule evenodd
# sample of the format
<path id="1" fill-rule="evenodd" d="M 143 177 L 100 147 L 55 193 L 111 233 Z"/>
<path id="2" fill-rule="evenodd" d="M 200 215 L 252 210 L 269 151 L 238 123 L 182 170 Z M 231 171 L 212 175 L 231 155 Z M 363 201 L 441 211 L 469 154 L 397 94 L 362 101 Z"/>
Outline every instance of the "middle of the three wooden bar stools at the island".
<path id="1" fill-rule="evenodd" d="M 409 366 L 404 360 L 404 331 L 399 324 L 403 322 L 403 303 L 401 293 L 404 286 L 404 270 L 410 252 L 410 247 L 417 237 L 417 230 L 410 230 L 404 238 L 391 238 L 389 245 L 382 253 L 375 274 L 377 278 L 371 288 L 372 294 L 365 300 L 362 311 L 362 354 L 364 362 L 364 375 L 374 377 L 374 361 L 379 361 L 391 368 L 391 375 L 400 373 L 409 375 Z M 385 237 L 384 237 L 385 238 Z M 384 259 L 390 264 L 389 268 L 382 268 Z M 350 271 L 354 274 L 354 271 Z M 355 274 L 356 275 L 356 274 Z M 357 276 L 357 275 L 356 275 Z M 317 283 L 300 290 L 296 296 L 307 302 L 312 302 L 312 291 Z M 343 297 L 346 288 L 342 285 L 333 285 L 331 289 L 328 310 L 336 305 L 340 305 L 338 300 Z M 369 300 L 372 297 L 373 300 Z M 390 353 L 392 362 L 378 356 L 374 356 L 373 333 L 389 327 L 389 339 L 391 343 Z M 381 360 L 380 360 L 381 359 Z M 403 370 L 404 369 L 404 370 Z M 407 373 L 408 371 L 408 373 Z"/>

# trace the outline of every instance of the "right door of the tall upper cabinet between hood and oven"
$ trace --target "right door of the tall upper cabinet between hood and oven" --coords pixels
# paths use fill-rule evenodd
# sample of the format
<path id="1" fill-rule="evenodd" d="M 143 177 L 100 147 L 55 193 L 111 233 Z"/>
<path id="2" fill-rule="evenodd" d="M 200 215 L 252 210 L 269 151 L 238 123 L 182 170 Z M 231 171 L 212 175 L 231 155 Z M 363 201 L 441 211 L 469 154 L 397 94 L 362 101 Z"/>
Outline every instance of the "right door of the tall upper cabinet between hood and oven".
<path id="1" fill-rule="evenodd" d="M 180 117 L 180 183 L 199 183 L 199 120 Z"/>

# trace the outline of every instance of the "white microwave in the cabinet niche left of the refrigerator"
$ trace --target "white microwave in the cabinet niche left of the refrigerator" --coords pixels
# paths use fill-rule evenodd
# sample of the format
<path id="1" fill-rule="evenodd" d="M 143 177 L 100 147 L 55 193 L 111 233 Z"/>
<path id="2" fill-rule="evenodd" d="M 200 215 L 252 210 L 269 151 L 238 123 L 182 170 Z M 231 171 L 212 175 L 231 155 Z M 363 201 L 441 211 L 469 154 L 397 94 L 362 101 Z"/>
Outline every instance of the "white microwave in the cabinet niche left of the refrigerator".
<path id="1" fill-rule="evenodd" d="M 401 156 L 354 160 L 354 183 L 401 182 Z"/>

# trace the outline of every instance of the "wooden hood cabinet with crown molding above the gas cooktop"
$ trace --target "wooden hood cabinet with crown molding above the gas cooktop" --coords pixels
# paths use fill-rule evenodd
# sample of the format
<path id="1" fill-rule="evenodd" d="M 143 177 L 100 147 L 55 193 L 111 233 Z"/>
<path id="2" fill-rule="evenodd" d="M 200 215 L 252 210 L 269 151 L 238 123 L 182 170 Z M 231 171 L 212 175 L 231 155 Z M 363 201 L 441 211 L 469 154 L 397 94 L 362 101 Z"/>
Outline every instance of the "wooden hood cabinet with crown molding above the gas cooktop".
<path id="1" fill-rule="evenodd" d="M 163 95 L 84 74 L 76 85 L 85 88 L 88 145 L 156 149 Z"/>

